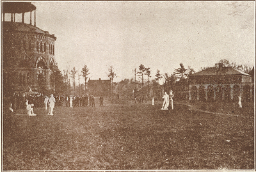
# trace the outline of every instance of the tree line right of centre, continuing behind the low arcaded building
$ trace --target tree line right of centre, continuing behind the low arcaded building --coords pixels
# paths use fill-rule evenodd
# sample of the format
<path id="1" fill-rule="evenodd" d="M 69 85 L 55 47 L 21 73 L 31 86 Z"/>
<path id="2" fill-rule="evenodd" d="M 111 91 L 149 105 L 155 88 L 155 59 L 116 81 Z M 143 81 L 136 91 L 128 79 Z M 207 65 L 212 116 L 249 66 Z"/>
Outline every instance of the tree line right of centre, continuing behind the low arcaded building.
<path id="1" fill-rule="evenodd" d="M 218 68 L 219 66 L 236 68 L 237 70 L 241 70 L 247 74 L 252 70 L 249 66 L 236 65 L 236 63 L 232 63 L 227 59 L 221 59 L 216 63 L 215 67 Z M 201 68 L 200 71 L 207 68 L 209 67 Z M 163 91 L 168 92 L 170 90 L 174 90 L 176 93 L 179 93 L 179 98 L 182 99 L 188 96 L 188 75 L 195 74 L 196 71 L 191 68 L 191 66 L 185 68 L 185 66 L 180 63 L 179 67 L 175 69 L 173 74 L 161 74 L 157 69 L 156 75 L 151 81 L 149 80 L 149 78 L 152 77 L 150 75 L 150 67 L 147 68 L 141 64 L 138 66 L 138 72 L 136 72 L 136 69 L 134 72 L 134 79 L 124 79 L 119 82 L 116 87 L 116 92 L 121 95 L 144 99 L 147 97 L 161 97 Z M 138 78 L 137 80 L 136 77 Z M 147 77 L 147 85 L 145 85 L 145 77 Z M 159 84 L 159 81 L 161 80 L 163 81 L 162 86 Z"/>

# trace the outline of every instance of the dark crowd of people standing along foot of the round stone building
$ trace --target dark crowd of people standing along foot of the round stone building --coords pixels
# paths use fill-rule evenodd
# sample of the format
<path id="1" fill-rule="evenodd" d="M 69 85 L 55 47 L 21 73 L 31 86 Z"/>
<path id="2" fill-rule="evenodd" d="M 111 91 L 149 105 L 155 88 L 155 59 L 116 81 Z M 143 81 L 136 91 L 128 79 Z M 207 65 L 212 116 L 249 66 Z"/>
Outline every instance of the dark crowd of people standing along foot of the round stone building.
<path id="1" fill-rule="evenodd" d="M 26 102 L 28 104 L 33 104 L 34 108 L 38 107 L 47 107 L 49 106 L 50 95 L 44 95 L 42 93 L 13 93 L 10 97 L 12 103 L 12 108 L 17 109 L 26 109 Z M 66 107 L 86 107 L 86 106 L 95 106 L 95 98 L 93 95 L 82 95 L 82 96 L 65 96 L 65 95 L 56 95 L 55 106 L 66 106 Z M 47 101 L 48 99 L 48 101 Z M 103 105 L 100 101 L 100 105 Z"/>

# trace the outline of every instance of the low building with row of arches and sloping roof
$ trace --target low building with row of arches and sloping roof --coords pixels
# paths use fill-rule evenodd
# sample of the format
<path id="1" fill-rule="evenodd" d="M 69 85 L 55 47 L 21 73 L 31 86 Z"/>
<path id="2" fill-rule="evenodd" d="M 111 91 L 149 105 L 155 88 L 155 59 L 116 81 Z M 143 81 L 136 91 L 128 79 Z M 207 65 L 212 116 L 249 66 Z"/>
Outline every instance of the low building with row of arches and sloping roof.
<path id="1" fill-rule="evenodd" d="M 232 67 L 212 67 L 189 75 L 189 100 L 253 101 L 253 82 L 249 74 Z"/>

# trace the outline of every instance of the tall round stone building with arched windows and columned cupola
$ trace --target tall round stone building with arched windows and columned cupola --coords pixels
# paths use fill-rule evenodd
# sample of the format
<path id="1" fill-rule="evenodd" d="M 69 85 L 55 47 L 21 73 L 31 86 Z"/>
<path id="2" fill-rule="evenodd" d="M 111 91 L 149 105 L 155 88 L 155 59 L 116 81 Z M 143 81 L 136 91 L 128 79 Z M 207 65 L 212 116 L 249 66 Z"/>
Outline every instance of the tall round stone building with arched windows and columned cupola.
<path id="1" fill-rule="evenodd" d="M 56 37 L 36 27 L 33 4 L 3 2 L 2 7 L 4 93 L 54 90 Z"/>

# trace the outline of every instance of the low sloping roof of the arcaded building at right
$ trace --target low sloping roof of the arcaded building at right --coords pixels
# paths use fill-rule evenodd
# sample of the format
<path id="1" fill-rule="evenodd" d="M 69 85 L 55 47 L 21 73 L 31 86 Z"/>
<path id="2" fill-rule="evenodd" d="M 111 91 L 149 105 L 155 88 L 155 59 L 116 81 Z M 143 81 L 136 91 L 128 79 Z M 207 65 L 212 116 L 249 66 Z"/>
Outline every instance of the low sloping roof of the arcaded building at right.
<path id="1" fill-rule="evenodd" d="M 249 74 L 246 74 L 240 70 L 237 70 L 232 67 L 222 67 L 222 68 L 207 68 L 205 70 L 202 70 L 200 72 L 196 72 L 195 74 L 189 75 L 189 76 L 205 76 L 205 75 L 246 75 L 250 76 Z"/>

